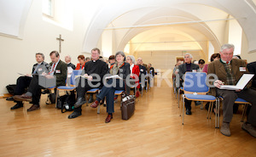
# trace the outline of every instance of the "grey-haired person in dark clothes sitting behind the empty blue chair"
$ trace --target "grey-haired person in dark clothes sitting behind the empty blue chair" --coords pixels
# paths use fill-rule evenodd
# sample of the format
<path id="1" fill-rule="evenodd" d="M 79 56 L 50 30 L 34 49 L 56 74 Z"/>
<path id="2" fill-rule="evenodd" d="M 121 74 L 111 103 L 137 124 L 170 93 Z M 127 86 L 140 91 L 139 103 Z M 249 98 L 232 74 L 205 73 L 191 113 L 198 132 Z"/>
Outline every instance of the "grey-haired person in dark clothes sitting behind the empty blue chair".
<path id="1" fill-rule="evenodd" d="M 183 76 L 187 71 L 196 72 L 199 69 L 198 64 L 192 64 L 191 60 L 193 59 L 192 54 L 185 53 L 184 55 L 184 64 L 178 66 L 178 75 L 180 78 L 180 85 L 183 82 Z M 178 80 L 177 80 L 178 81 Z M 178 84 L 178 83 L 177 83 Z M 191 100 L 185 99 L 186 115 L 191 115 Z"/>

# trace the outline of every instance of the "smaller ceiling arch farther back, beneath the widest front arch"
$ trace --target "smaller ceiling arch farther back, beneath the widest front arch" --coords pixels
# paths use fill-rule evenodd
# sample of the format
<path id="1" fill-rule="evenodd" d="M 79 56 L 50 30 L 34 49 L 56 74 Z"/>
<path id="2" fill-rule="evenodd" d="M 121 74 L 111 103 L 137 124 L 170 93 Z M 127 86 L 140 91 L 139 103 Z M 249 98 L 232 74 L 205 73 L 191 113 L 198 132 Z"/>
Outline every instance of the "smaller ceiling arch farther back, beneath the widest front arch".
<path id="1" fill-rule="evenodd" d="M 205 7 L 205 9 L 206 9 L 206 6 L 201 6 L 201 7 Z M 215 14 L 215 18 L 224 18 L 227 16 L 227 14 L 225 14 L 225 13 L 218 13 L 218 12 L 220 12 L 220 10 L 217 8 L 209 7 L 207 9 L 208 10 L 212 9 L 212 12 Z M 129 22 L 127 22 L 127 23 L 125 23 L 125 20 L 127 19 L 127 17 L 133 17 L 134 14 L 139 14 L 142 10 L 135 9 L 135 10 L 129 11 L 128 13 L 122 14 L 119 16 L 119 18 L 117 18 L 116 20 L 113 20 L 111 22 L 111 26 L 109 26 L 108 28 L 113 29 L 113 25 L 115 25 L 115 28 L 119 28 L 119 26 L 122 27 L 122 26 L 126 26 L 126 25 L 131 25 L 131 26 L 135 25 L 135 27 L 136 27 L 136 25 L 148 25 L 148 26 L 150 26 L 152 24 L 153 25 L 159 25 L 159 24 L 161 25 L 161 24 L 168 24 L 168 22 L 172 22 L 171 24 L 169 23 L 170 25 L 172 25 L 172 24 L 173 25 L 175 25 L 175 24 L 176 25 L 178 25 L 178 24 L 184 25 L 185 24 L 185 25 L 188 25 L 188 27 L 195 27 L 195 29 L 201 30 L 200 32 L 203 34 L 206 34 L 206 36 L 209 38 L 209 40 L 212 40 L 212 41 L 215 40 L 215 42 L 212 42 L 212 43 L 213 43 L 213 46 L 215 46 L 218 49 L 219 42 L 218 42 L 217 36 L 215 36 L 214 33 L 212 33 L 211 29 L 206 24 L 195 23 L 201 19 L 199 19 L 198 17 L 195 17 L 194 14 L 189 12 L 189 9 L 168 8 L 168 7 L 154 8 L 154 9 L 151 9 L 151 11 L 148 11 L 148 14 L 145 14 L 145 10 L 147 10 L 147 9 L 143 9 L 143 13 L 144 13 L 143 15 L 140 14 L 141 18 L 138 18 L 138 16 L 137 16 L 137 18 L 135 20 L 129 20 Z M 184 10 L 186 10 L 186 11 L 184 11 Z M 219 16 L 219 14 L 221 16 Z M 180 16 L 180 15 L 183 15 L 183 16 Z M 205 19 L 203 19 L 203 20 L 205 20 Z M 209 19 L 207 19 L 207 20 L 209 20 Z M 216 20 L 216 19 L 210 18 L 210 20 Z M 192 22 L 194 22 L 194 24 Z M 199 26 L 197 26 L 197 25 L 199 25 Z M 204 25 L 205 28 L 202 28 L 201 25 Z M 198 27 L 198 28 L 196 28 L 196 27 Z M 108 28 L 107 28 L 107 30 L 108 30 Z M 153 26 L 153 28 L 154 28 L 154 26 Z M 146 30 L 140 29 L 140 31 L 133 31 L 133 30 L 137 30 L 137 27 L 136 27 L 135 29 L 131 28 L 131 29 L 114 29 L 114 30 L 116 30 L 114 32 L 114 34 L 116 36 L 116 44 L 115 45 L 118 46 L 115 50 L 121 50 L 121 49 L 125 48 L 125 44 L 127 42 L 129 42 L 129 40 L 131 40 L 131 38 L 134 37 L 137 33 L 146 31 L 148 29 L 146 29 Z M 125 36 L 130 34 L 132 31 L 135 35 L 128 37 L 127 40 L 124 40 Z M 197 35 L 195 35 L 195 36 L 197 36 Z M 204 39 L 204 40 L 207 40 L 207 39 Z"/>

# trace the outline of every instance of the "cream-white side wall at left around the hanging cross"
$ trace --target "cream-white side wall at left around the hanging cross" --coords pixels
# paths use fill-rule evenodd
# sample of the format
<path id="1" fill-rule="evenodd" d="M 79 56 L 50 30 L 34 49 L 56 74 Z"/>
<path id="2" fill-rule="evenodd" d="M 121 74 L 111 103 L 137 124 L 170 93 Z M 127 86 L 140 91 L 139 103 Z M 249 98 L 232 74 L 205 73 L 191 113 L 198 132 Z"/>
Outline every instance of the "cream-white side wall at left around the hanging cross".
<path id="1" fill-rule="evenodd" d="M 59 42 L 56 37 L 60 34 L 64 39 L 61 48 L 61 59 L 64 61 L 65 55 L 70 54 L 73 64 L 78 63 L 77 57 L 82 53 L 84 33 L 87 25 L 89 25 L 93 10 L 88 5 L 81 5 L 82 1 L 80 3 L 78 3 L 79 0 L 74 2 L 77 3 L 74 3 L 73 6 L 74 19 L 73 30 L 71 31 L 43 20 L 42 2 L 32 1 L 24 25 L 23 36 L 17 38 L 0 35 L 1 95 L 8 93 L 5 88 L 8 84 L 16 83 L 16 79 L 19 77 L 17 72 L 25 74 L 32 72 L 32 64 L 36 63 L 35 53 L 44 53 L 45 61 L 50 62 L 49 53 L 53 50 L 59 50 Z M 9 7 L 11 6 L 9 5 Z M 87 13 L 89 11 L 90 14 Z M 7 14 L 12 14 L 12 12 Z M 90 52 L 84 53 L 84 55 L 90 56 Z"/>

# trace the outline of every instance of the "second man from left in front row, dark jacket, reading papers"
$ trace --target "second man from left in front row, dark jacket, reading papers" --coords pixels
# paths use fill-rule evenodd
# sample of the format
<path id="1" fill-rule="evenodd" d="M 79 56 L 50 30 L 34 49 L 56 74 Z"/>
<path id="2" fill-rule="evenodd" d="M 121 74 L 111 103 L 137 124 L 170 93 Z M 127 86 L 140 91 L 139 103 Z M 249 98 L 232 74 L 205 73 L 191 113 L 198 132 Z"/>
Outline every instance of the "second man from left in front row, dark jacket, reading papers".
<path id="1" fill-rule="evenodd" d="M 56 87 L 65 86 L 67 79 L 67 64 L 60 59 L 60 54 L 57 51 L 53 51 L 49 53 L 51 63 L 49 68 L 49 73 L 43 73 L 46 79 L 56 78 Z M 42 76 L 43 77 L 43 76 Z M 39 85 L 39 76 L 33 76 L 32 81 L 28 87 L 27 93 L 22 95 L 15 96 L 15 100 L 17 101 L 31 101 L 32 106 L 27 109 L 27 111 L 32 111 L 36 109 L 40 109 L 40 97 L 41 97 L 41 87 Z"/>

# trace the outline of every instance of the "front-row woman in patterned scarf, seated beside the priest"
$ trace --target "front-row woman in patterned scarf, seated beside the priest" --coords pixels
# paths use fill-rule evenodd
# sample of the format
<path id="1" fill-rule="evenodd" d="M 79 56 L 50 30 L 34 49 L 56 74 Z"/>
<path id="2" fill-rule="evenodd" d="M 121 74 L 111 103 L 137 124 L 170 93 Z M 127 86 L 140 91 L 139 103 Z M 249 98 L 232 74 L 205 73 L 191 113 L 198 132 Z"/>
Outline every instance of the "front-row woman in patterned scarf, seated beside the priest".
<path id="1" fill-rule="evenodd" d="M 111 76 L 118 75 L 121 77 L 122 80 L 119 80 L 118 78 L 110 78 L 107 81 L 107 84 L 105 84 L 102 87 L 101 93 L 99 93 L 96 96 L 96 101 L 90 105 L 92 108 L 96 108 L 99 104 L 99 102 L 106 97 L 107 98 L 107 112 L 108 116 L 105 120 L 106 123 L 110 122 L 111 119 L 113 119 L 113 97 L 114 97 L 114 91 L 115 90 L 125 90 L 125 79 L 126 76 L 130 75 L 130 64 L 125 63 L 125 53 L 123 52 L 117 52 L 115 54 L 115 60 L 116 62 L 110 66 L 110 69 L 108 70 L 108 73 Z"/>

